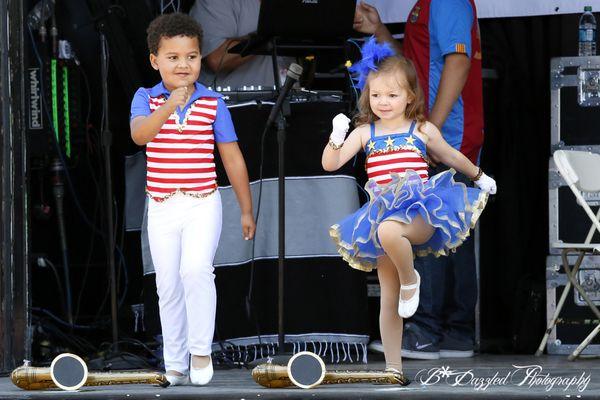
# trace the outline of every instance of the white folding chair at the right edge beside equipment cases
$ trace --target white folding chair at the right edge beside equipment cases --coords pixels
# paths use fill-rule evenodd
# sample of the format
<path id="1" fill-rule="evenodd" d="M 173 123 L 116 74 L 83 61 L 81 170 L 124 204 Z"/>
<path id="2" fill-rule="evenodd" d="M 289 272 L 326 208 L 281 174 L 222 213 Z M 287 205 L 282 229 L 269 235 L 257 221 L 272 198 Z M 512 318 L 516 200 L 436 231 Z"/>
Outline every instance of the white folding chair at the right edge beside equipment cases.
<path id="1" fill-rule="evenodd" d="M 577 279 L 577 272 L 579 266 L 583 261 L 583 257 L 587 254 L 599 254 L 600 243 L 591 243 L 594 232 L 597 230 L 600 232 L 600 209 L 598 213 L 594 215 L 587 201 L 584 199 L 582 192 L 590 194 L 600 195 L 600 154 L 594 154 L 585 151 L 571 151 L 571 150 L 557 150 L 554 152 L 554 163 L 558 168 L 558 172 L 565 180 L 569 188 L 577 198 L 577 204 L 583 207 L 585 213 L 592 221 L 592 226 L 587 234 L 585 241 L 582 243 L 564 243 L 562 241 L 552 243 L 551 246 L 555 249 L 561 249 L 561 257 L 563 267 L 569 282 L 565 286 L 562 292 L 561 298 L 556 306 L 554 316 L 548 325 L 548 329 L 542 339 L 542 343 L 536 352 L 536 355 L 540 355 L 544 351 L 544 347 L 548 340 L 548 336 L 554 329 L 558 315 L 563 307 L 565 299 L 571 286 L 575 288 L 590 307 L 592 312 L 596 314 L 597 318 L 600 319 L 600 311 L 596 305 L 591 301 L 585 289 L 581 287 Z M 574 252 L 579 253 L 579 257 L 571 269 L 568 260 L 568 254 Z M 581 352 L 590 344 L 594 337 L 600 332 L 600 324 L 581 342 L 575 351 L 569 356 L 569 360 L 573 361 Z"/>

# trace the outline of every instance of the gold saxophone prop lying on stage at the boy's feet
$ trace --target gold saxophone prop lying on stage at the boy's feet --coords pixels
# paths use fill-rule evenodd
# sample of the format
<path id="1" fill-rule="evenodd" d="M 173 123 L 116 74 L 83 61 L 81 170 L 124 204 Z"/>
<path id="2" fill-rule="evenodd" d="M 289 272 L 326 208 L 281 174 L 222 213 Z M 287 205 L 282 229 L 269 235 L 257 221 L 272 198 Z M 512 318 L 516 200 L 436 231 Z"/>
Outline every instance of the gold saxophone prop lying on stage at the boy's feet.
<path id="1" fill-rule="evenodd" d="M 54 364 L 60 357 L 70 357 L 77 359 L 82 363 L 81 380 L 77 384 L 65 387 L 57 380 Z M 56 357 L 50 368 L 32 367 L 28 361 L 16 368 L 10 374 L 11 381 L 21 389 L 25 390 L 40 390 L 61 388 L 63 390 L 77 390 L 81 386 L 103 386 L 103 385 L 123 385 L 134 383 L 156 384 L 163 387 L 169 385 L 167 378 L 159 372 L 152 371 L 123 371 L 123 372 L 89 372 L 87 366 L 79 357 L 73 354 L 61 354 Z"/>

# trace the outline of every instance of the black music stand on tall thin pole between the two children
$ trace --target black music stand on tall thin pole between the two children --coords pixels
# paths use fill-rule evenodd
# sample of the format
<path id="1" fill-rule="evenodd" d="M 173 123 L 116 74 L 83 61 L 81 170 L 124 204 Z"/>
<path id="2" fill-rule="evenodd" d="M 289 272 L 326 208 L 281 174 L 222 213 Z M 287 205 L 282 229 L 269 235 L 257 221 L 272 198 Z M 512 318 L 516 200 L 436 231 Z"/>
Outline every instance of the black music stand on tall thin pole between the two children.
<path id="1" fill-rule="evenodd" d="M 229 49 L 230 53 L 270 55 L 275 86 L 281 90 L 277 57 L 306 56 L 331 50 L 345 50 L 354 22 L 355 3 L 348 0 L 302 1 L 262 0 L 256 33 Z M 345 58 L 344 58 L 345 59 Z M 277 118 L 278 142 L 278 318 L 279 353 L 285 353 L 284 263 L 285 263 L 285 139 L 289 101 L 282 104 Z M 265 126 L 265 133 L 270 126 Z M 257 221 L 258 222 L 258 221 Z"/>

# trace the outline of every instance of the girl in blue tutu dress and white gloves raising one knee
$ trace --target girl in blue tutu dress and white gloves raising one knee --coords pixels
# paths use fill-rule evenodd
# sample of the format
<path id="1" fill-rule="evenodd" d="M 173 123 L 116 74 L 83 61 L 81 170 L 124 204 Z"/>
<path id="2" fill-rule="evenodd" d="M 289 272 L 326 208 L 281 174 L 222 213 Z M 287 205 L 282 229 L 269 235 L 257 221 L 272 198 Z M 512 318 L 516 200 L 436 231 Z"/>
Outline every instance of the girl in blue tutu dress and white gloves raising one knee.
<path id="1" fill-rule="evenodd" d="M 322 164 L 335 171 L 361 149 L 367 154 L 369 202 L 330 235 L 351 267 L 377 268 L 381 285 L 379 324 L 386 367 L 402 373 L 402 318 L 419 305 L 420 277 L 414 255 L 447 255 L 469 235 L 495 181 L 442 138 L 424 116 L 423 94 L 411 62 L 388 44 L 370 39 L 362 60 L 352 66 L 362 89 L 356 125 L 344 140 L 350 120 L 333 119 Z M 452 169 L 428 176 L 428 157 Z M 453 179 L 455 170 L 479 189 Z"/>

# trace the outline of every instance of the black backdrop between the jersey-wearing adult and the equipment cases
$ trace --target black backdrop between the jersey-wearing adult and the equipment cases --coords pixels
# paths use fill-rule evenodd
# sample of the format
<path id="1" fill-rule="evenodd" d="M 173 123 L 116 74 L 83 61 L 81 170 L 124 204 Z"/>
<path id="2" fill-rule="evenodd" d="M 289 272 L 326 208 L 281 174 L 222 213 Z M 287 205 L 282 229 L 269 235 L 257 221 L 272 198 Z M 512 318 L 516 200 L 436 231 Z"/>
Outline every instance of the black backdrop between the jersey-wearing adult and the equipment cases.
<path id="1" fill-rule="evenodd" d="M 577 19 L 480 20 L 484 68 L 497 72 L 484 79 L 482 166 L 498 182 L 481 221 L 484 352 L 532 353 L 545 329 L 550 60 L 577 54 Z"/>

